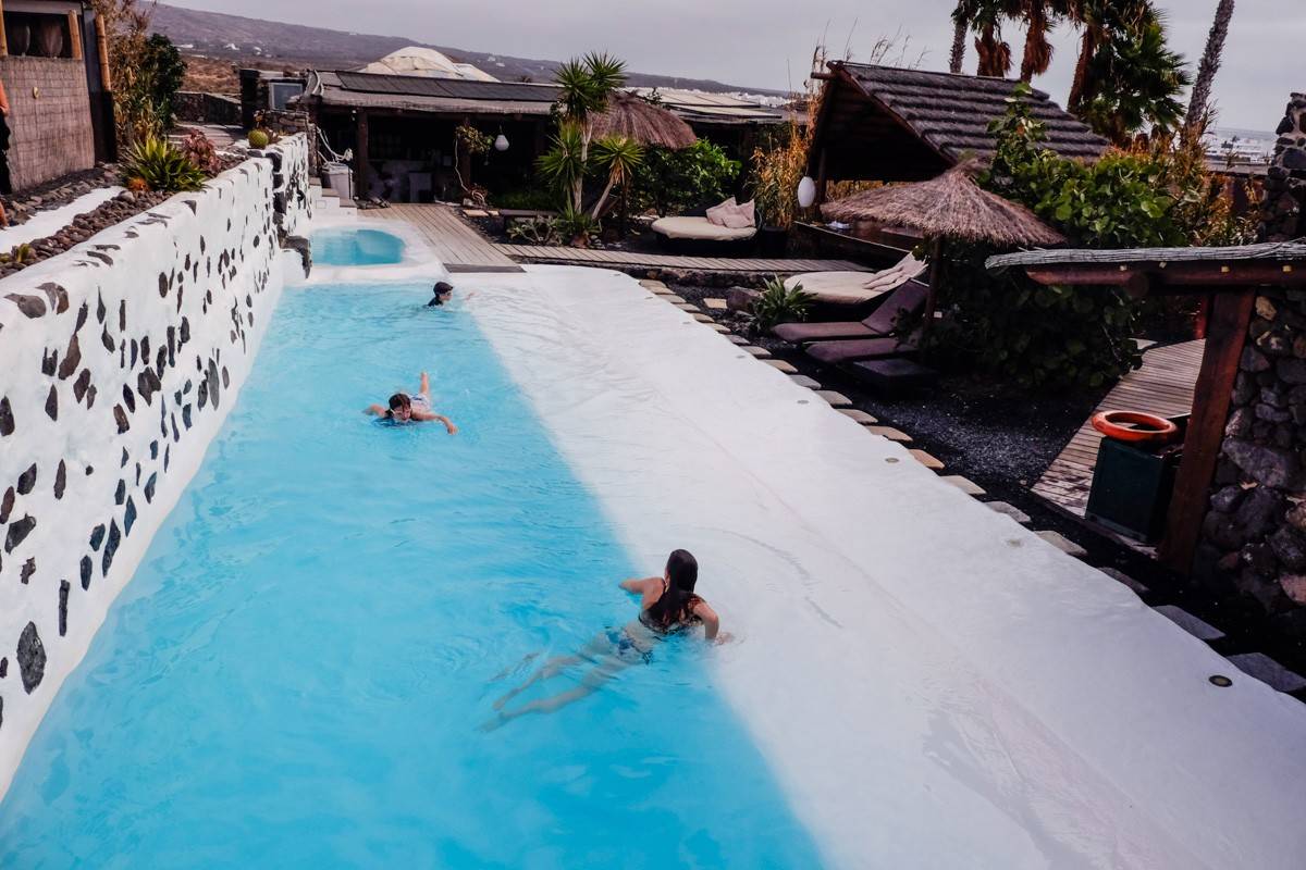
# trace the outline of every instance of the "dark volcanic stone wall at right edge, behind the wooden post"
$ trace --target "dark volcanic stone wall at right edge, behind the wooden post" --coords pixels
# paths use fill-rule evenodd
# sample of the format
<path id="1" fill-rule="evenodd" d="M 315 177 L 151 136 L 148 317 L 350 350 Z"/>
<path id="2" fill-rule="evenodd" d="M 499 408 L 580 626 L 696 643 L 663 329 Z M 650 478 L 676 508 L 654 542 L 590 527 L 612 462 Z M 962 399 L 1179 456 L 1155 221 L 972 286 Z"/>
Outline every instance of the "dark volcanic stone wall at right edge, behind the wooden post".
<path id="1" fill-rule="evenodd" d="M 1279 134 L 1264 241 L 1306 232 L 1306 94 L 1293 94 Z M 1306 291 L 1256 299 L 1195 567 L 1306 635 Z"/>

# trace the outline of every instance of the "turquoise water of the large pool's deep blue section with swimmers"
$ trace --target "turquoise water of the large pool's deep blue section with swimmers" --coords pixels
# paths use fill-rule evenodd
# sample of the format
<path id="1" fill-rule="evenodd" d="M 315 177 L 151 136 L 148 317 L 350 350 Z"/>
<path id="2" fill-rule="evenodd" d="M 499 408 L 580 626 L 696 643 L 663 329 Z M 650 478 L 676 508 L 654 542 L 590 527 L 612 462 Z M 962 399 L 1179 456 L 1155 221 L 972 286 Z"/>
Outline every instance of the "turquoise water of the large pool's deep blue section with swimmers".
<path id="1" fill-rule="evenodd" d="M 820 866 L 700 643 L 478 729 L 661 566 L 428 292 L 286 292 L 0 803 L 0 867 Z M 423 368 L 460 434 L 360 413 Z"/>

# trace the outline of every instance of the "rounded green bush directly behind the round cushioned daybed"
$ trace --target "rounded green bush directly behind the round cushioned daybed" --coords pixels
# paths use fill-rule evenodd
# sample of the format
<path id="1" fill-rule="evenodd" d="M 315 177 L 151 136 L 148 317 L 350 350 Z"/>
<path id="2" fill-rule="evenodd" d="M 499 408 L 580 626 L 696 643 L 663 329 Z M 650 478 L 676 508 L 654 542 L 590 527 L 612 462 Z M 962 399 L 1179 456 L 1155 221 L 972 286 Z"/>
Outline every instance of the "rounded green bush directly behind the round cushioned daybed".
<path id="1" fill-rule="evenodd" d="M 649 147 L 635 170 L 631 198 L 637 209 L 653 209 L 658 215 L 714 205 L 734 187 L 739 167 L 739 160 L 731 160 L 708 140 L 678 151 Z"/>

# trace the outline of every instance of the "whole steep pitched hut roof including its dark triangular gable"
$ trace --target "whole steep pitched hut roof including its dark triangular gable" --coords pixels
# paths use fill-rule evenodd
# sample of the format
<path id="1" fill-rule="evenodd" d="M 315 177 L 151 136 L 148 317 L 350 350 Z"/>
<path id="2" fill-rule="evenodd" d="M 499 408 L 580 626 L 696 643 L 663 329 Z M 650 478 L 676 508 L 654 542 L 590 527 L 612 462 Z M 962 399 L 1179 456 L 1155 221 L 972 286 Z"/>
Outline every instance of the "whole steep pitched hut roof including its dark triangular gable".
<path id="1" fill-rule="evenodd" d="M 823 159 L 829 180 L 917 181 L 968 157 L 990 159 L 989 124 L 1020 83 L 846 61 L 829 64 L 827 78 L 812 170 Z M 1047 94 L 1032 91 L 1027 102 L 1047 129 L 1045 146 L 1060 157 L 1096 160 L 1109 147 Z"/>

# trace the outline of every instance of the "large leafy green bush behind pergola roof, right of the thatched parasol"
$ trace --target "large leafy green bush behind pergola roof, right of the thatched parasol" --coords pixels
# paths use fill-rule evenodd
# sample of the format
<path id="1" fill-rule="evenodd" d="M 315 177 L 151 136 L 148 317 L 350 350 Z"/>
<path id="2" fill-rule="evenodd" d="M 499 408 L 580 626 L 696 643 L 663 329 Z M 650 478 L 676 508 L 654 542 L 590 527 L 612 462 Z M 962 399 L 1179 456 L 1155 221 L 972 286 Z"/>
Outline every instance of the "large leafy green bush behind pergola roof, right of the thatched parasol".
<path id="1" fill-rule="evenodd" d="M 1079 248 L 1229 244 L 1247 232 L 1229 213 L 1200 154 L 1156 145 L 1097 163 L 1046 149 L 1043 125 L 1017 93 L 990 125 L 996 153 L 983 187 L 1019 202 Z M 1139 365 L 1134 337 L 1147 310 L 1114 287 L 1043 287 L 1013 270 L 985 271 L 998 253 L 948 244 L 935 357 L 978 367 L 1027 387 L 1100 387 Z"/>

